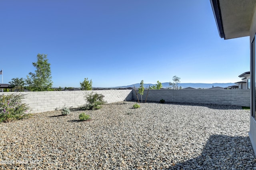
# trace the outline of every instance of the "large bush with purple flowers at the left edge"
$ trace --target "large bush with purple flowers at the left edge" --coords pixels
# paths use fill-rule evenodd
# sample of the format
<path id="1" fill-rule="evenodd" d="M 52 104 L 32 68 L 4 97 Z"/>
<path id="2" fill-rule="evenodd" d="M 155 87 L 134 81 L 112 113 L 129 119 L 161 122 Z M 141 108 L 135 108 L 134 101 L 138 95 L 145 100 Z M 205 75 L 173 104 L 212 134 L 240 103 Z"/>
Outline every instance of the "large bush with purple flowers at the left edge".
<path id="1" fill-rule="evenodd" d="M 0 122 L 10 122 L 29 116 L 31 109 L 23 103 L 24 96 L 16 93 L 0 95 Z"/>

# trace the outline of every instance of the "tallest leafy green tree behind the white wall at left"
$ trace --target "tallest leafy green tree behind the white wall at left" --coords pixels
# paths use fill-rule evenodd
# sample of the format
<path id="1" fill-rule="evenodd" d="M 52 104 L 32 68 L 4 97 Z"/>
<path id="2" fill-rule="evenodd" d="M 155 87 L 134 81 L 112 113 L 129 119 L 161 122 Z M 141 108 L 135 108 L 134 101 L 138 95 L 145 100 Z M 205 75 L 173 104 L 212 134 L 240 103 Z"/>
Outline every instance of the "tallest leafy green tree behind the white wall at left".
<path id="1" fill-rule="evenodd" d="M 52 76 L 50 63 L 48 63 L 46 54 L 38 54 L 37 62 L 32 63 L 36 67 L 35 73 L 30 72 L 27 75 L 26 83 L 32 91 L 51 91 Z"/>

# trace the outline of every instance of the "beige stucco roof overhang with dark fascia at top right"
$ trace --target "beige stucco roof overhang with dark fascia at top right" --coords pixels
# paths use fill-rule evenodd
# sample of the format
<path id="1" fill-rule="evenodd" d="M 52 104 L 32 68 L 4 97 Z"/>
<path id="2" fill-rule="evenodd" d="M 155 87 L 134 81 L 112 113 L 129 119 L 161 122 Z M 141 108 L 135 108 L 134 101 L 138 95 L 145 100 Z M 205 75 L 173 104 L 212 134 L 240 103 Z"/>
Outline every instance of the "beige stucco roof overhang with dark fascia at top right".
<path id="1" fill-rule="evenodd" d="M 210 0 L 220 38 L 250 35 L 256 0 Z"/>

